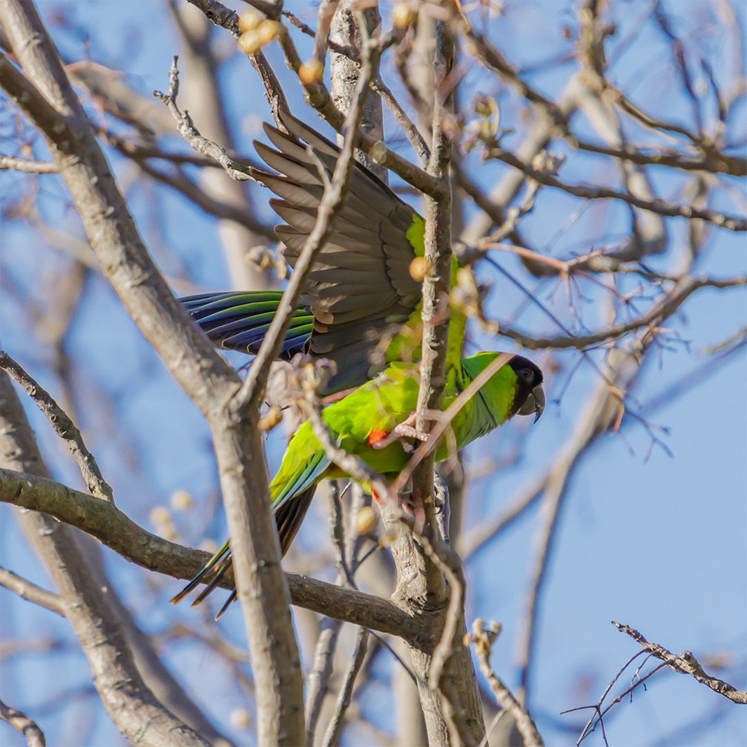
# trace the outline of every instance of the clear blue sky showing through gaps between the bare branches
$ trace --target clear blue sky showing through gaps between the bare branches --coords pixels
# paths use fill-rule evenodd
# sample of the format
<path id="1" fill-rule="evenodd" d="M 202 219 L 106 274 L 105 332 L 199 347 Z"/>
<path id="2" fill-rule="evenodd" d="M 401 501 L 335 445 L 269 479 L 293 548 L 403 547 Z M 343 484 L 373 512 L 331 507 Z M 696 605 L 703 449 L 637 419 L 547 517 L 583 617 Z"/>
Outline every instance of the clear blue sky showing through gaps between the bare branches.
<path id="1" fill-rule="evenodd" d="M 289 3 L 288 7 L 302 15 L 306 10 L 306 4 Z M 505 14 L 491 22 L 489 31 L 512 61 L 522 67 L 533 66 L 572 49 L 572 42 L 563 39 L 561 28 L 564 24 L 574 28 L 574 7 L 565 2 L 508 3 Z M 716 79 L 725 80 L 730 72 L 731 48 L 728 38 L 711 18 L 709 8 L 709 3 L 695 1 L 672 2 L 667 6 L 675 28 L 687 41 L 687 49 L 706 56 Z M 52 25 L 66 58 L 78 60 L 87 53 L 95 61 L 125 69 L 128 80 L 142 93 L 167 86 L 171 55 L 178 51 L 178 40 L 164 5 L 146 1 L 45 2 L 40 10 Z M 69 28 L 55 25 L 59 10 L 66 14 Z M 744 36 L 744 8 L 737 5 L 735 10 Z M 610 75 L 631 96 L 639 96 L 635 100 L 643 108 L 689 126 L 689 104 L 681 95 L 660 32 L 645 22 L 647 13 L 648 4 L 642 2 L 615 6 L 618 29 L 610 41 Z M 313 16 L 312 13 L 308 20 Z M 76 25 L 90 32 L 87 52 Z M 222 43 L 226 52 L 232 51 L 229 39 Z M 305 43 L 301 41 L 300 45 Z M 317 122 L 315 115 L 303 107 L 297 85 L 285 75 L 287 71 L 276 49 L 270 49 L 268 56 L 282 74 L 295 113 L 309 123 Z M 573 69 L 572 64 L 564 63 L 542 66 L 530 75 L 530 80 L 544 93 L 557 96 Z M 384 72 L 386 75 L 388 69 Z M 232 126 L 244 144 L 244 151 L 249 153 L 250 140 L 257 136 L 258 118 L 269 116 L 261 87 L 249 63 L 238 54 L 226 64 L 221 82 Z M 495 88 L 495 82 L 490 85 Z M 465 96 L 478 91 L 498 96 L 503 126 L 516 129 L 515 134 L 506 137 L 506 146 L 517 146 L 526 125 L 521 121 L 521 111 L 512 92 L 505 87 L 491 90 L 478 66 L 465 76 L 463 90 Z M 713 117 L 713 105 L 707 96 L 703 99 L 708 121 Z M 192 114 L 199 125 L 199 111 Z M 742 104 L 735 108 L 730 122 L 734 143 L 741 152 L 745 120 Z M 6 135 L 10 126 L 7 114 L 1 124 Z M 580 131 L 589 136 L 592 132 L 583 122 Z M 632 128 L 630 137 L 644 140 L 645 135 Z M 176 137 L 173 146 L 179 147 Z M 401 145 L 401 151 L 411 157 L 405 146 L 406 143 Z M 37 146 L 37 149 L 37 155 L 43 157 L 43 148 Z M 562 146 L 557 146 L 557 150 L 565 152 Z M 158 252 L 159 242 L 179 259 L 195 288 L 225 287 L 226 270 L 217 247 L 215 221 L 173 194 L 161 192 L 154 200 L 149 187 L 133 182 L 131 166 L 116 156 L 111 161 L 123 184 L 128 185 L 131 209 L 141 232 L 157 258 L 164 258 L 164 272 L 178 273 L 179 264 L 167 252 Z M 500 164 L 483 167 L 476 156 L 468 163 L 474 166 L 474 178 L 486 187 L 505 173 L 506 167 Z M 600 179 L 617 183 L 616 173 L 601 159 L 590 156 L 569 156 L 562 178 L 568 182 Z M 685 199 L 687 177 L 653 170 L 651 178 L 668 198 Z M 40 205 L 45 217 L 63 225 L 68 232 L 81 235 L 77 220 L 66 208 L 67 195 L 59 182 L 54 177 L 43 177 L 40 183 L 43 189 Z M 0 186 L 4 201 L 15 199 L 19 190 L 28 189 L 28 179 L 4 172 L 0 174 Z M 267 199 L 264 193 L 255 194 L 258 202 L 264 204 Z M 740 197 L 744 199 L 744 185 L 731 180 L 731 191 L 715 193 L 713 206 L 737 213 L 743 211 Z M 579 202 L 568 196 L 542 190 L 536 208 L 521 228 L 533 246 L 556 256 L 606 246 L 630 231 L 630 213 L 619 204 L 604 203 L 587 209 L 565 232 L 560 232 L 578 207 Z M 264 213 L 267 217 L 269 214 L 269 211 Z M 676 267 L 685 251 L 686 223 L 668 220 L 667 224 L 670 248 L 666 255 L 651 260 L 655 270 Z M 50 368 L 50 353 L 34 335 L 28 308 L 29 300 L 43 300 L 52 293 L 60 273 L 69 267 L 69 258 L 39 241 L 38 235 L 19 221 L 4 223 L 2 229 L 2 268 L 20 291 L 19 297 L 3 294 L 2 344 L 54 394 L 59 384 Z M 744 248 L 743 236 L 712 232 L 698 274 L 721 277 L 744 273 L 747 264 Z M 568 299 L 562 288 L 551 295 L 552 285 L 536 286 L 525 273 L 522 275 L 514 258 L 500 255 L 498 260 L 531 288 L 537 288 L 543 303 L 570 323 Z M 480 267 L 478 273 L 481 280 L 492 283 L 489 314 L 499 320 L 512 319 L 524 302 L 521 294 L 489 267 Z M 214 505 L 208 500 L 217 490 L 208 428 L 140 337 L 108 285 L 93 275 L 86 282 L 86 294 L 75 315 L 68 343 L 78 424 L 114 486 L 120 507 L 150 528 L 148 517 L 152 506 L 168 503 L 177 489 L 187 489 L 198 500 L 198 506 L 185 515 L 176 515 L 182 540 L 197 544 L 206 537 L 222 539 L 225 532 L 222 512 L 211 516 L 207 508 Z M 630 289 L 633 283 L 631 280 L 623 287 Z M 588 286 L 584 290 L 589 299 L 583 303 L 583 322 L 596 329 L 604 323 L 600 312 L 601 291 Z M 646 407 L 660 393 L 668 391 L 673 382 L 703 365 L 707 358 L 701 350 L 737 332 L 745 324 L 745 312 L 741 291 L 702 291 L 692 297 L 684 313 L 672 321 L 691 352 L 684 343 L 675 343 L 660 356 L 652 355 L 636 383 L 630 406 L 635 406 L 637 400 L 649 421 L 666 427 L 663 440 L 672 456 L 654 447 L 647 459 L 650 438 L 639 424 L 628 418 L 621 433 L 603 436 L 595 444 L 574 474 L 543 599 L 533 669 L 531 707 L 548 744 L 575 742 L 578 731 L 565 731 L 564 725 L 573 727 L 580 717 L 559 716 L 560 711 L 594 701 L 617 669 L 636 651 L 636 645 L 610 624 L 613 619 L 637 627 L 648 639 L 672 651 L 689 648 L 698 656 L 728 654 L 730 666 L 721 675 L 735 686 L 747 684 L 747 360 L 744 352 L 731 356 L 716 373 L 687 388 L 666 406 L 654 410 Z M 559 332 L 535 308 L 522 313 L 517 326 L 536 335 Z M 473 331 L 473 338 L 480 347 L 506 347 L 506 341 L 495 341 L 477 331 Z M 543 365 L 548 362 L 543 354 L 533 357 Z M 592 357 L 601 362 L 604 356 L 597 352 Z M 232 356 L 231 360 L 237 365 L 242 362 L 240 356 Z M 591 366 L 583 365 L 566 387 L 574 356 L 563 353 L 554 356 L 554 362 L 560 372 L 551 378 L 548 398 L 554 400 L 562 391 L 562 400 L 551 404 L 545 418 L 530 429 L 518 465 L 471 482 L 468 527 L 500 515 L 512 495 L 536 477 L 567 441 L 578 412 L 598 384 L 598 374 Z M 96 406 L 85 402 L 87 396 L 106 404 L 105 418 Z M 55 475 L 63 482 L 79 486 L 74 466 L 49 427 L 37 412 L 29 409 L 29 415 Z M 509 451 L 523 427 L 512 424 L 475 444 L 469 453 L 470 463 Z M 280 434 L 273 435 L 269 442 L 271 465 L 279 459 L 281 447 Z M 310 517 L 309 526 L 300 536 L 302 548 L 329 542 L 322 515 L 320 508 L 317 515 Z M 2 565 L 43 585 L 48 583 L 19 536 L 7 507 L 2 508 L 1 516 Z M 494 647 L 494 663 L 511 686 L 516 684 L 516 642 L 536 526 L 535 510 L 505 533 L 500 542 L 476 554 L 467 566 L 468 622 L 480 616 L 503 624 L 503 635 Z M 174 610 L 166 604 L 178 588 L 177 582 L 151 577 L 143 583 L 145 571 L 108 551 L 106 559 L 117 589 L 146 630 L 162 631 L 175 620 L 211 624 L 202 622 L 188 607 Z M 0 604 L 4 639 L 38 636 L 69 644 L 64 621 L 8 592 L 0 591 Z M 220 626 L 229 639 L 243 645 L 238 610 L 227 615 Z M 242 701 L 232 682 L 226 681 L 220 663 L 188 642 L 170 645 L 165 656 L 170 666 L 184 675 L 193 695 L 208 713 L 221 725 L 227 725 L 229 714 Z M 50 665 L 54 666 L 53 672 L 49 671 Z M 391 666 L 396 665 L 385 657 L 379 669 L 385 674 L 391 671 Z M 40 682 L 44 683 L 41 688 Z M 86 701 L 81 701 L 78 707 L 55 705 L 55 697 L 61 692 L 90 684 L 90 672 L 75 642 L 69 645 L 69 650 L 64 648 L 53 654 L 13 657 L 2 667 L 0 684 L 7 693 L 7 702 L 13 706 L 27 710 L 30 715 L 39 710 L 46 713 L 43 727 L 51 744 L 72 745 L 81 734 L 87 735 L 86 743 L 90 745 L 122 741 L 98 707 L 91 709 Z M 719 708 L 723 710 L 716 712 L 718 718 L 708 728 L 692 728 L 676 737 L 680 740 L 676 743 L 725 746 L 746 743 L 743 714 L 737 707 L 717 701 L 718 696 L 700 684 L 674 673 L 664 673 L 651 682 L 648 692 L 639 689 L 633 704 L 622 703 L 613 710 L 607 724 L 610 743 L 663 744 L 672 734 L 676 737 L 681 726 L 695 724 L 701 716 L 705 718 Z M 65 702 L 69 702 L 69 695 Z M 371 713 L 383 719 L 392 706 L 391 692 L 385 682 L 372 684 L 366 702 Z M 92 722 L 88 731 L 86 719 Z M 4 744 L 22 743 L 8 728 L 1 733 Z M 236 731 L 235 737 L 242 743 L 251 741 L 250 732 Z M 354 734 L 347 738 L 347 743 L 357 743 Z M 600 744 L 601 737 L 592 735 L 586 743 Z"/>

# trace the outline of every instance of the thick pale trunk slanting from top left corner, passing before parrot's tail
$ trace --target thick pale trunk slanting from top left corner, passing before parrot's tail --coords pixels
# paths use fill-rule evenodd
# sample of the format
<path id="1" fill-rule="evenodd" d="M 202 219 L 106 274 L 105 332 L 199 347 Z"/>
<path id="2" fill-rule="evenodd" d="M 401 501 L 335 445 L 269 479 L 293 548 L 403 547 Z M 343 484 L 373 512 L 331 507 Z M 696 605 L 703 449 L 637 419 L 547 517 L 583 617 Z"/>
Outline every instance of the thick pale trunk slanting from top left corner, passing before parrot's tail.
<path id="1" fill-rule="evenodd" d="M 229 527 L 239 542 L 237 582 L 258 684 L 258 740 L 299 743 L 303 740 L 300 660 L 267 498 L 258 413 L 239 418 L 226 409 L 238 391 L 238 375 L 196 329 L 150 260 L 36 9 L 19 0 L 3 0 L 1 7 L 13 51 L 43 95 L 4 55 L 2 87 L 44 135 L 91 247 L 125 309 L 211 424 Z M 69 162 L 71 156 L 75 163 Z M 234 506 L 241 518 L 234 515 Z M 247 506 L 252 507 L 251 522 Z M 244 555 L 244 546 L 255 562 Z"/>

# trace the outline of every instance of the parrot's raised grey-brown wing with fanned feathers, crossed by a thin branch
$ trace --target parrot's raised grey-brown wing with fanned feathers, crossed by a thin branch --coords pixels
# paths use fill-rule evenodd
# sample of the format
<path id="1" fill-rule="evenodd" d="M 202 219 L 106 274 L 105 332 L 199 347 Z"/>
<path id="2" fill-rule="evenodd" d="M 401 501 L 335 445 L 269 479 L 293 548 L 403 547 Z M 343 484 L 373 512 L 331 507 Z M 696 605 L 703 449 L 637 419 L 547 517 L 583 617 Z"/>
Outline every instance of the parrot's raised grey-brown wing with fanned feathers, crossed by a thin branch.
<path id="1" fill-rule="evenodd" d="M 270 205 L 285 223 L 275 230 L 294 267 L 323 195 L 320 169 L 331 176 L 340 151 L 287 111 L 280 117 L 290 134 L 264 125 L 275 148 L 255 143 L 258 155 L 278 174 L 255 171 L 254 176 L 279 197 Z M 421 286 L 409 267 L 423 251 L 423 237 L 422 218 L 356 163 L 305 296 L 314 316 L 308 350 L 338 367 L 330 391 L 369 378 L 371 351 L 382 333 L 406 322 L 418 308 Z"/>

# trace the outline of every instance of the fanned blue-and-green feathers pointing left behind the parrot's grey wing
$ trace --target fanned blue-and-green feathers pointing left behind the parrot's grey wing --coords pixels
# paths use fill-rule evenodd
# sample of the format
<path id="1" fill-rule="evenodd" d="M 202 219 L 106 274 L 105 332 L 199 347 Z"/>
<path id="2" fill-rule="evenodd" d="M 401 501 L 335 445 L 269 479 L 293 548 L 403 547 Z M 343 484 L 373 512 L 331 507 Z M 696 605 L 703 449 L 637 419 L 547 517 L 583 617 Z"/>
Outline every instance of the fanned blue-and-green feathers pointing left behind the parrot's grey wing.
<path id="1" fill-rule="evenodd" d="M 278 310 L 282 291 L 228 291 L 185 296 L 179 301 L 216 347 L 255 354 Z M 296 309 L 280 357 L 303 352 L 314 317 L 306 304 Z"/>

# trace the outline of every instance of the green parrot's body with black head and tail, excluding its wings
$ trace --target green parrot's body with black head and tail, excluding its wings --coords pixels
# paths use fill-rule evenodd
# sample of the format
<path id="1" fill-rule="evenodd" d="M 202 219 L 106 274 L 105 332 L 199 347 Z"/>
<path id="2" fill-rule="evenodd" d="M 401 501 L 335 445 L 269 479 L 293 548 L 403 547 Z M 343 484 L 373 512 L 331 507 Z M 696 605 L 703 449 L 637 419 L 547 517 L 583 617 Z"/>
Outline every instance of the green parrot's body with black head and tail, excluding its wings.
<path id="1" fill-rule="evenodd" d="M 498 356 L 500 353 L 477 353 L 450 366 L 444 387 L 443 409 L 447 409 L 459 393 Z M 392 440 L 387 436 L 393 431 L 396 434 L 395 428 L 415 412 L 418 387 L 418 368 L 394 363 L 376 379 L 323 409 L 323 421 L 339 447 L 356 454 L 373 470 L 393 480 L 405 467 L 409 459 L 408 451 L 412 447 L 405 437 Z M 514 415 L 535 415 L 536 421 L 544 408 L 542 371 L 526 358 L 513 356 L 451 421 L 453 442 L 460 450 Z M 449 447 L 442 438 L 436 446 L 436 461 L 442 461 L 447 456 Z M 345 477 L 345 473 L 329 459 L 314 436 L 311 424 L 306 421 L 291 438 L 277 474 L 270 483 L 270 500 L 283 555 L 288 551 L 309 509 L 317 483 L 338 477 Z M 171 601 L 176 604 L 214 571 L 208 585 L 193 602 L 199 604 L 217 586 L 230 565 L 231 549 L 229 542 L 226 542 Z M 218 617 L 235 597 L 236 592 L 232 592 Z"/>

